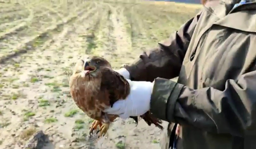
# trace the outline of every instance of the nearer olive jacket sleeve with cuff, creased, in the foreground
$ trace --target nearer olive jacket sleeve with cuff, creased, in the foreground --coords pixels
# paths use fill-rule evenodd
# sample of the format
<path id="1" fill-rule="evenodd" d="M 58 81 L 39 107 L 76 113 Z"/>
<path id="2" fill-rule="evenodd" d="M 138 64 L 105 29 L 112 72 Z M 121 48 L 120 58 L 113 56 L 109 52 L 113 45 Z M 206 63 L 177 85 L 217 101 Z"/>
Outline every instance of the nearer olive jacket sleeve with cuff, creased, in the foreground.
<path id="1" fill-rule="evenodd" d="M 234 136 L 256 134 L 256 70 L 227 80 L 225 90 L 190 89 L 157 78 L 151 96 L 154 116 L 181 125 Z"/>

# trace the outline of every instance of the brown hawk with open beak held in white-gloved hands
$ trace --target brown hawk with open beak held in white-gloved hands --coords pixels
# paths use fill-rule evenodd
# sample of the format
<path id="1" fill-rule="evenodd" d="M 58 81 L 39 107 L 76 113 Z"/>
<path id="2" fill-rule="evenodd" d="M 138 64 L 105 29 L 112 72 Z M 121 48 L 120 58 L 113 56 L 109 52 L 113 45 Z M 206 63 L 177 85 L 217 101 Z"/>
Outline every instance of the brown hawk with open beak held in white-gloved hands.
<path id="1" fill-rule="evenodd" d="M 94 119 L 90 126 L 90 135 L 99 126 L 98 137 L 107 133 L 109 124 L 118 115 L 109 115 L 103 112 L 105 108 L 112 107 L 117 100 L 126 99 L 130 93 L 128 81 L 118 72 L 113 71 L 110 63 L 99 56 L 89 59 L 80 59 L 75 65 L 69 82 L 72 99 L 79 109 Z M 140 115 L 150 126 L 152 123 L 160 129 L 161 120 L 154 118 L 147 111 Z M 131 117 L 138 124 L 138 117 Z"/>

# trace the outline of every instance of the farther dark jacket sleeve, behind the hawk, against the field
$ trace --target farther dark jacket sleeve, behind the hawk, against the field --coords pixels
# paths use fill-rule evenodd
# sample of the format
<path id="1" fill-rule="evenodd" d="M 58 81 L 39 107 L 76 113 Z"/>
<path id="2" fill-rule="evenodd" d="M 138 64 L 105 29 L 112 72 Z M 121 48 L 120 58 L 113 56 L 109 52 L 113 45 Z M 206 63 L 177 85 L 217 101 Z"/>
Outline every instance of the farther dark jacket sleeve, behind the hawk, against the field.
<path id="1" fill-rule="evenodd" d="M 158 43 L 156 48 L 143 52 L 132 64 L 124 65 L 130 79 L 152 82 L 157 77 L 177 77 L 200 14 L 184 23 L 169 39 Z"/>

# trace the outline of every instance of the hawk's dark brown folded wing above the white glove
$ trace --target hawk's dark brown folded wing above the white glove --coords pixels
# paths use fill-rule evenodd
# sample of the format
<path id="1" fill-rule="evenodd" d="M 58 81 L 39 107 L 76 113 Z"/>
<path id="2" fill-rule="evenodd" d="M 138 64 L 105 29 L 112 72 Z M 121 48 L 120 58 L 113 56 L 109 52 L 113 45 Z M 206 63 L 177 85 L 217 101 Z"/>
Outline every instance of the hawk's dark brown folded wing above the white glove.
<path id="1" fill-rule="evenodd" d="M 108 93 L 108 97 L 104 100 L 109 100 L 111 107 L 117 100 L 125 99 L 129 95 L 130 85 L 122 75 L 109 67 L 100 67 L 100 72 L 102 74 L 101 91 Z"/>

